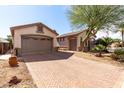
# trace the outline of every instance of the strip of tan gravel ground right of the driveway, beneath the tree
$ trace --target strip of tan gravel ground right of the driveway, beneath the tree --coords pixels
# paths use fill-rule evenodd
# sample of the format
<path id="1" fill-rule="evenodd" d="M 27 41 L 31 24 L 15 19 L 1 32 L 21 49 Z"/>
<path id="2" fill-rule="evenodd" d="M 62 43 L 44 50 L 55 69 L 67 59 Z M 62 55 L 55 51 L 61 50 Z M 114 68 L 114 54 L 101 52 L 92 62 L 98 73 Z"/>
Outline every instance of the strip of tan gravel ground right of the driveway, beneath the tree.
<path id="1" fill-rule="evenodd" d="M 124 63 L 120 63 L 118 61 L 113 60 L 110 57 L 110 54 L 103 54 L 103 57 L 96 57 L 93 53 L 75 52 L 75 55 L 77 57 L 82 57 L 82 58 L 94 60 L 97 62 L 104 62 L 104 63 L 115 65 L 115 66 L 124 66 Z"/>

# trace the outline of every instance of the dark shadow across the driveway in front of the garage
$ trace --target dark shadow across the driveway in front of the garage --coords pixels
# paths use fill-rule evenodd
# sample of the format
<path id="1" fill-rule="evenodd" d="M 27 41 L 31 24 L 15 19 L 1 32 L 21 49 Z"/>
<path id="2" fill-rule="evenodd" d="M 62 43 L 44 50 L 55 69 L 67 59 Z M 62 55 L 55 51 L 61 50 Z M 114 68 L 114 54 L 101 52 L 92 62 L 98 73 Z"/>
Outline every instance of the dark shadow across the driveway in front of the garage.
<path id="1" fill-rule="evenodd" d="M 39 62 L 39 61 L 52 61 L 52 60 L 63 60 L 68 59 L 74 53 L 69 52 L 52 52 L 45 54 L 32 54 L 23 56 L 24 62 Z"/>

